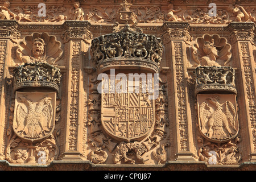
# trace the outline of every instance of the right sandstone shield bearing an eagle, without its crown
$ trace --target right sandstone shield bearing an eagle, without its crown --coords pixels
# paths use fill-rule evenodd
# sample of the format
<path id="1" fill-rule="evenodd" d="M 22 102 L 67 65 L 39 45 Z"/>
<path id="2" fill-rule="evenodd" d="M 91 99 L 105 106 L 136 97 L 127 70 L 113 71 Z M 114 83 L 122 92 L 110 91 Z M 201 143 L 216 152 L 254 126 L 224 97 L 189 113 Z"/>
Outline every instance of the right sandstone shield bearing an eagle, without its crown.
<path id="1" fill-rule="evenodd" d="M 238 134 L 236 94 L 197 94 L 199 130 L 212 142 L 223 143 Z"/>

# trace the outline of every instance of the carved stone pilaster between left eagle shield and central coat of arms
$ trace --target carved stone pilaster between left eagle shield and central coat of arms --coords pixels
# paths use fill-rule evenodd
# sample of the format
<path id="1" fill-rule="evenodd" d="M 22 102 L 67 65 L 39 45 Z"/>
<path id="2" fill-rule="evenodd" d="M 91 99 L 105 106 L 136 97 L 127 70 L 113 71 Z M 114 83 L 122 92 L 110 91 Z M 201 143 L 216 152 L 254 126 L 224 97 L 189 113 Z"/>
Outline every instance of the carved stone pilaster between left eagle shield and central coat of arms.
<path id="1" fill-rule="evenodd" d="M 82 160 L 82 128 L 84 97 L 83 57 L 88 51 L 92 33 L 87 21 L 66 21 L 63 33 L 65 53 L 67 56 L 67 115 L 65 128 L 65 145 L 63 160 Z"/>

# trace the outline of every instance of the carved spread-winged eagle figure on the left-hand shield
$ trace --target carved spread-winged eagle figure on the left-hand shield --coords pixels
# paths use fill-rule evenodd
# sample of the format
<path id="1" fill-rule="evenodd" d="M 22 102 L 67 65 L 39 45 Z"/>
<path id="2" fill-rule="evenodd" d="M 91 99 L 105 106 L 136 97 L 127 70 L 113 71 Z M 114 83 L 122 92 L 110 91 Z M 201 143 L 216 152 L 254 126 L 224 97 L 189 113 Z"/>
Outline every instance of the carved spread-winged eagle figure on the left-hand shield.
<path id="1" fill-rule="evenodd" d="M 38 139 L 44 137 L 51 129 L 50 123 L 53 117 L 51 97 L 44 97 L 37 102 L 19 97 L 16 110 L 16 130 L 24 138 Z M 26 106 L 27 108 L 25 108 Z"/>

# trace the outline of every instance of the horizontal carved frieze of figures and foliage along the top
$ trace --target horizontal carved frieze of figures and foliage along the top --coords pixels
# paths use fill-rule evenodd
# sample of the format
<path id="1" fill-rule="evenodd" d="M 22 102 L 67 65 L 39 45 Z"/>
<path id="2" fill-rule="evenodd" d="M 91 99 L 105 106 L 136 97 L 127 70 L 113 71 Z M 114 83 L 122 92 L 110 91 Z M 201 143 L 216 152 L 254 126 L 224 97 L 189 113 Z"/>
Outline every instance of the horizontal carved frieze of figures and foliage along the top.
<path id="1" fill-rule="evenodd" d="M 192 24 L 228 24 L 230 22 L 255 21 L 254 10 L 245 10 L 238 4 L 228 7 L 221 6 L 217 9 L 216 16 L 209 16 L 210 8 L 208 6 L 199 6 L 197 9 L 184 7 L 181 9 L 174 7 L 169 1 L 163 5 L 151 2 L 151 6 L 145 5 L 145 2 L 133 5 L 133 1 L 127 2 L 126 0 L 121 3 L 114 2 L 112 5 L 100 3 L 101 5 L 99 2 L 76 1 L 69 9 L 66 9 L 64 5 L 46 5 L 46 16 L 39 16 L 39 7 L 36 5 L 17 6 L 10 10 L 10 2 L 6 1 L 1 6 L 1 19 L 15 19 L 18 22 L 60 23 L 65 20 L 88 20 L 92 23 L 119 22 L 123 24 L 126 22 L 134 24 L 170 21 Z M 90 6 L 89 9 L 88 6 Z"/>

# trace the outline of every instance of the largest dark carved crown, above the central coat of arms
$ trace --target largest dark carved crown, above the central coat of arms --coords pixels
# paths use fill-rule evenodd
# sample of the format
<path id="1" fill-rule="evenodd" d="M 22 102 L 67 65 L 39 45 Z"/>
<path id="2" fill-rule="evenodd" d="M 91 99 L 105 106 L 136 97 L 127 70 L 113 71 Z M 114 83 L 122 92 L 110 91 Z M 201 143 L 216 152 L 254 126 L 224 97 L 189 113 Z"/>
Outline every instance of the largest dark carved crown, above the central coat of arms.
<path id="1" fill-rule="evenodd" d="M 144 69 L 158 73 L 163 54 L 162 39 L 133 30 L 119 31 L 92 40 L 91 55 L 97 72 L 109 69 Z"/>

